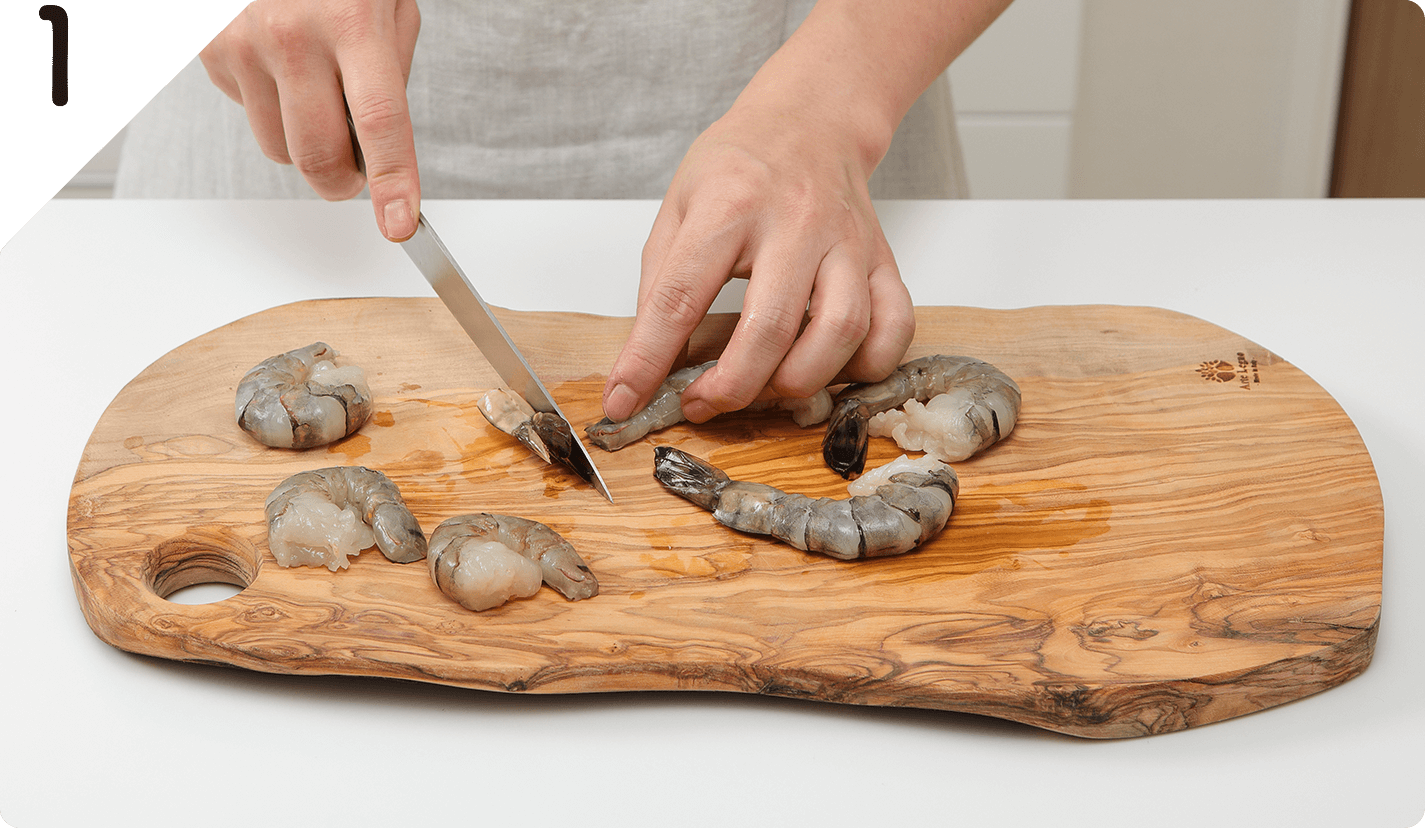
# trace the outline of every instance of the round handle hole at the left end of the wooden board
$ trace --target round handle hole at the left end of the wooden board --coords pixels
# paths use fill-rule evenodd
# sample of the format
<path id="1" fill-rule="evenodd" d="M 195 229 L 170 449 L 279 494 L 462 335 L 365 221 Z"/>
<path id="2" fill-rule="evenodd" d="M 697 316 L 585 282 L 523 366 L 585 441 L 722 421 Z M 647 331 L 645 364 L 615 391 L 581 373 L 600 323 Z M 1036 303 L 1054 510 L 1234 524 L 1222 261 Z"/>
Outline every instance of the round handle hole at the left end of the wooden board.
<path id="1" fill-rule="evenodd" d="M 229 599 L 258 574 L 258 550 L 222 526 L 194 527 L 148 553 L 144 581 L 161 599 L 209 604 Z"/>

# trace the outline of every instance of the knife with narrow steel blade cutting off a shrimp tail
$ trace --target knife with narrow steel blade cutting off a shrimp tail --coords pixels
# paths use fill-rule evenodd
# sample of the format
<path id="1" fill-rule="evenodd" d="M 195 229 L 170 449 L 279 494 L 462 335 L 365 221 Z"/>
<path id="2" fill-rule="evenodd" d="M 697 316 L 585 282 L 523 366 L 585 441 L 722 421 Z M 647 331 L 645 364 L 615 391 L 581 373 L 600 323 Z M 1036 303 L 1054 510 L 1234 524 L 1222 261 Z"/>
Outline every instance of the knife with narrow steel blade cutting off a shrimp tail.
<path id="1" fill-rule="evenodd" d="M 366 162 L 362 157 L 361 144 L 356 141 L 356 124 L 352 123 L 351 113 L 346 114 L 346 127 L 351 130 L 356 168 L 365 175 Z M 416 217 L 416 232 L 400 242 L 400 248 L 416 264 L 420 275 L 430 282 L 436 295 L 445 302 L 446 309 L 465 328 L 475 346 L 480 349 L 484 361 L 504 381 L 504 385 L 512 392 L 524 398 L 524 402 L 534 410 L 553 413 L 569 423 L 569 418 L 560 410 L 559 403 L 550 396 L 544 383 L 539 381 L 529 361 L 520 353 L 514 341 L 504 332 L 504 326 L 490 312 L 490 306 L 480 298 L 480 292 L 475 289 L 470 278 L 465 275 L 465 271 L 456 264 L 455 257 L 450 255 L 440 237 L 436 235 L 425 212 Z M 589 449 L 584 447 L 579 435 L 573 433 L 573 429 L 570 429 L 570 443 L 573 452 L 570 453 L 569 463 L 573 470 L 613 503 L 614 497 L 608 493 L 608 486 L 594 466 L 594 459 L 589 455 Z"/>

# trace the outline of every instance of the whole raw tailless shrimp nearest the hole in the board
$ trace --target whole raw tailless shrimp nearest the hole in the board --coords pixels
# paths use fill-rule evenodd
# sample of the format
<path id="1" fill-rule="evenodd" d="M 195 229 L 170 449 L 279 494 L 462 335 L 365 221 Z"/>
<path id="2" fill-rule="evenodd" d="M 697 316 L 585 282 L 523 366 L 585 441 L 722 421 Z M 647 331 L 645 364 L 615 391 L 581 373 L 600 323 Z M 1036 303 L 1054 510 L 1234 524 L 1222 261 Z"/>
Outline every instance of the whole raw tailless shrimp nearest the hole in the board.
<path id="1" fill-rule="evenodd" d="M 365 466 L 298 472 L 268 495 L 268 549 L 282 566 L 346 569 L 373 543 L 388 559 L 426 556 L 426 536 L 389 477 Z"/>

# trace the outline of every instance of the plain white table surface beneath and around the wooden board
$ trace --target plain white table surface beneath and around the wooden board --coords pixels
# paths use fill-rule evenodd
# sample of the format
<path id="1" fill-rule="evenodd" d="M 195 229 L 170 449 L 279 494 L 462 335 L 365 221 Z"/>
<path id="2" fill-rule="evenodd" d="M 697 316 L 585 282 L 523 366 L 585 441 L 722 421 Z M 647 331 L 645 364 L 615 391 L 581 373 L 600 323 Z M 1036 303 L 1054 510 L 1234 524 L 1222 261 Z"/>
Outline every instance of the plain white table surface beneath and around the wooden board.
<path id="1" fill-rule="evenodd" d="M 426 204 L 487 301 L 630 315 L 650 201 Z M 53 201 L 0 252 L 0 817 L 40 825 L 1369 825 L 1425 812 L 1425 201 L 885 202 L 918 304 L 1153 305 L 1292 362 L 1385 497 L 1359 677 L 1174 734 L 712 693 L 524 697 L 101 643 L 66 506 L 104 408 L 219 325 L 433 295 L 369 204 Z M 735 308 L 735 292 L 720 299 Z"/>

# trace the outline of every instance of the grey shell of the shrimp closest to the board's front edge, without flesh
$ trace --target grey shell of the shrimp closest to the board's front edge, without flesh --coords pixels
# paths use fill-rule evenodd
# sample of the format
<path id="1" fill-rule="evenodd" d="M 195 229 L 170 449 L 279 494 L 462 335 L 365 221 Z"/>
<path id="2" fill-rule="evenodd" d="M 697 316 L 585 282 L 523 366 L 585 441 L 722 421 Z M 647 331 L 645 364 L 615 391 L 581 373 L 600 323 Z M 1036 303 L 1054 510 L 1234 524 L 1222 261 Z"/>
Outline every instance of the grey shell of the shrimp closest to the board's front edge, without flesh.
<path id="1" fill-rule="evenodd" d="M 430 579 L 442 593 L 463 607 L 479 611 L 503 603 L 503 599 L 497 600 L 487 593 L 462 590 L 456 583 L 462 550 L 489 542 L 496 542 L 539 564 L 543 581 L 571 601 L 598 594 L 598 580 L 594 573 L 573 544 L 557 532 L 536 520 L 482 512 L 450 517 L 436 526 L 430 533 L 426 553 Z"/>

